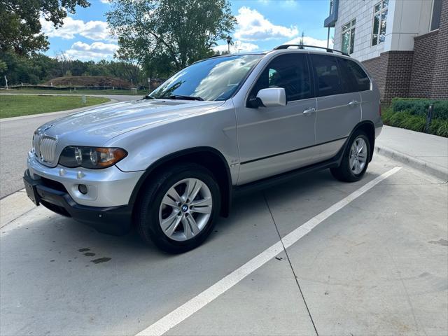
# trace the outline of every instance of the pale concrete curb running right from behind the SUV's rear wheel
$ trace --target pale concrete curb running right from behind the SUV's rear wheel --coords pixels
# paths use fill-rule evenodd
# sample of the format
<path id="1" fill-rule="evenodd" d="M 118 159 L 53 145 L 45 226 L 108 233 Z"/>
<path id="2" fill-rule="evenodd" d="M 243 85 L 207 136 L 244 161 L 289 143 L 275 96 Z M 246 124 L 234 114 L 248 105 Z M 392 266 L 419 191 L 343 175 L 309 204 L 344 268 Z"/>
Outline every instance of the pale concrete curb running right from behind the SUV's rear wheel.
<path id="1" fill-rule="evenodd" d="M 375 151 L 380 155 L 384 155 L 405 165 L 409 165 L 409 167 L 417 169 L 423 173 L 435 176 L 437 179 L 448 181 L 448 169 L 444 169 L 444 167 L 431 165 L 429 162 L 394 151 L 393 149 L 387 147 L 375 146 Z"/>

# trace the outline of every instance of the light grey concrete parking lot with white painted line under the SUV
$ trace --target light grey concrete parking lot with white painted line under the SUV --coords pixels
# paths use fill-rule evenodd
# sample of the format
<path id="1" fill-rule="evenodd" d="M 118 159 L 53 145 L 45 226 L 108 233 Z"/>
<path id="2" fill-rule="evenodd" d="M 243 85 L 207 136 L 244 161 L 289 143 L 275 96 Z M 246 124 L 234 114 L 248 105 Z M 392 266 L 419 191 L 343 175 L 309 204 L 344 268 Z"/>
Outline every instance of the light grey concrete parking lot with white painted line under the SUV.
<path id="1" fill-rule="evenodd" d="M 397 166 L 244 195 L 182 255 L 8 196 L 0 333 L 447 335 L 448 186 Z"/>

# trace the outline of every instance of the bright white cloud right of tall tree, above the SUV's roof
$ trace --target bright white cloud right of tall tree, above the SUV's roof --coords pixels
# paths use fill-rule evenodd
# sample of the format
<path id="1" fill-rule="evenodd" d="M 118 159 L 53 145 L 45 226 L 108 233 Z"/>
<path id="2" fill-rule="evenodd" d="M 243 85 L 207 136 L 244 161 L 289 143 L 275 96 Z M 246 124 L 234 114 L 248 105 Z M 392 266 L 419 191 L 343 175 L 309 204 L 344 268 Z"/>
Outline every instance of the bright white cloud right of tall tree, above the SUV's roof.
<path id="1" fill-rule="evenodd" d="M 244 41 L 293 38 L 299 33 L 297 27 L 274 25 L 257 10 L 248 7 L 239 8 L 236 18 L 238 26 L 235 37 Z"/>

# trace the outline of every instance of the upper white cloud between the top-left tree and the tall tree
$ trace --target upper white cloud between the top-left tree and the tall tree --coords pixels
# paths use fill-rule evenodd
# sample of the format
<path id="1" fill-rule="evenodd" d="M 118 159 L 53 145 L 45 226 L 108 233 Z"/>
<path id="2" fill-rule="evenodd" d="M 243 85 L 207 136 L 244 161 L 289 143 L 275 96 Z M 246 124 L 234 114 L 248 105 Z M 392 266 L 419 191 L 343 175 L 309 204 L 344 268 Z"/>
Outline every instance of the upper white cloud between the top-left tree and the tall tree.
<path id="1" fill-rule="evenodd" d="M 66 40 L 75 38 L 77 34 L 94 41 L 113 41 L 107 23 L 104 21 L 76 20 L 69 16 L 64 19 L 64 25 L 55 28 L 51 22 L 41 18 L 42 31 L 50 37 L 60 37 Z"/>

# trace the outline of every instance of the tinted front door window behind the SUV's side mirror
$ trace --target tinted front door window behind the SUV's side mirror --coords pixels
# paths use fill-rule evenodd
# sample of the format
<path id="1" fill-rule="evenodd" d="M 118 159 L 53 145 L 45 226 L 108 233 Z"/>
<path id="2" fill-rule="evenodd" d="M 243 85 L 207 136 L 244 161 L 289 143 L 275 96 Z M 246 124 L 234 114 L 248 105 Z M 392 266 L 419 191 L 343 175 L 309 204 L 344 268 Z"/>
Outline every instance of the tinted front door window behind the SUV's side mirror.
<path id="1" fill-rule="evenodd" d="M 251 97 L 268 87 L 283 87 L 288 102 L 311 98 L 311 80 L 306 56 L 288 54 L 272 59 L 253 87 Z"/>

